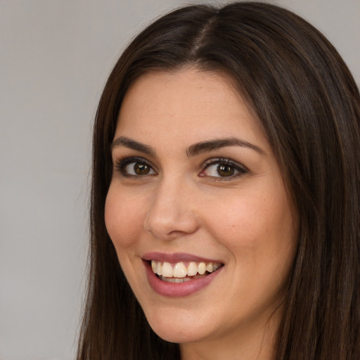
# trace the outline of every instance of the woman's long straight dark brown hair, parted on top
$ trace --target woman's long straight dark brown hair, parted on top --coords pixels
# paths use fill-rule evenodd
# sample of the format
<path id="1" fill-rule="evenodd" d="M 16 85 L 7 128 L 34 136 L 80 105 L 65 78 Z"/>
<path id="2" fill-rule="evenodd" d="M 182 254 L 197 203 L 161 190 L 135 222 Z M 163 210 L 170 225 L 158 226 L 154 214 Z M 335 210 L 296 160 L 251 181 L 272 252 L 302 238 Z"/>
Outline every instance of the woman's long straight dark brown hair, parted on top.
<path id="1" fill-rule="evenodd" d="M 78 360 L 179 359 L 150 329 L 105 229 L 110 143 L 129 86 L 146 72 L 223 72 L 262 123 L 300 218 L 274 359 L 360 359 L 359 91 L 323 35 L 278 6 L 187 6 L 129 44 L 94 124 L 89 289 Z"/>

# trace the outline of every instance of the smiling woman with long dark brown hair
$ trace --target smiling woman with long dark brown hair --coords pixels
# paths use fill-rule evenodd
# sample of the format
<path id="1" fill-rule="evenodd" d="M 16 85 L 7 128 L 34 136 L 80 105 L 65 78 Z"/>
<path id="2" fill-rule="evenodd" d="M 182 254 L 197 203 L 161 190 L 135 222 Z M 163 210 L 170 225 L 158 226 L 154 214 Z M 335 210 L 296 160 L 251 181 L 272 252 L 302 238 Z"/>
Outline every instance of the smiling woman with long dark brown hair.
<path id="1" fill-rule="evenodd" d="M 360 359 L 359 91 L 277 6 L 141 32 L 94 126 L 78 359 Z"/>

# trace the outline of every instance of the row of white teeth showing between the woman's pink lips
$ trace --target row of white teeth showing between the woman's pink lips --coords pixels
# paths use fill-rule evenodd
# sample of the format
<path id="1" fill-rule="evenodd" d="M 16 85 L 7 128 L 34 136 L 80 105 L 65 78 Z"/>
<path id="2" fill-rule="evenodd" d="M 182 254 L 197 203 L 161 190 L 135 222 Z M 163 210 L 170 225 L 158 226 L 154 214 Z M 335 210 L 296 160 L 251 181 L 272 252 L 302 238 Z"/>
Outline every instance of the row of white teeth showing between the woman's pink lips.
<path id="1" fill-rule="evenodd" d="M 221 262 L 160 262 L 158 260 L 150 260 L 153 273 L 162 281 L 167 283 L 184 283 L 186 281 L 203 278 L 221 266 Z"/>

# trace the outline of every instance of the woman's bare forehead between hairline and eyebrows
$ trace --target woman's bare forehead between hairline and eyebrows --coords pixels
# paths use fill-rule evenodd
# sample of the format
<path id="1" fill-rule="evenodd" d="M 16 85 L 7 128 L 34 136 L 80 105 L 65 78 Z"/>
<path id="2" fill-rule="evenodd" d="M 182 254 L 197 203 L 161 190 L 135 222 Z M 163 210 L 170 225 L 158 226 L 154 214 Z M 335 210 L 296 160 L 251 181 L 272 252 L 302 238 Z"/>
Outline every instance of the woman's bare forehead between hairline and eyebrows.
<path id="1" fill-rule="evenodd" d="M 229 77 L 186 68 L 150 72 L 137 79 L 124 97 L 115 138 L 182 136 L 184 141 L 196 142 L 202 137 L 234 136 L 234 131 L 263 141 L 259 120 Z"/>

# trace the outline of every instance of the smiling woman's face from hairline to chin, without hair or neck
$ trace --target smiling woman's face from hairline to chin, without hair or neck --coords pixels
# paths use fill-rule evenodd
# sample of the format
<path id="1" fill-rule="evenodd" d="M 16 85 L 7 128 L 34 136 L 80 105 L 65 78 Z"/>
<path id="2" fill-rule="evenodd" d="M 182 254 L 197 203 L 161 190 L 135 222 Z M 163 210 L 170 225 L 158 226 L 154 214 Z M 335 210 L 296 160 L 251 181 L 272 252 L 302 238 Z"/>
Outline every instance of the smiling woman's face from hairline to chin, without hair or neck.
<path id="1" fill-rule="evenodd" d="M 187 343 L 263 328 L 293 264 L 297 221 L 228 79 L 193 68 L 143 75 L 122 103 L 112 154 L 105 224 L 153 330 Z"/>

